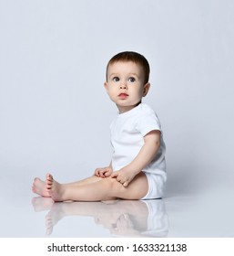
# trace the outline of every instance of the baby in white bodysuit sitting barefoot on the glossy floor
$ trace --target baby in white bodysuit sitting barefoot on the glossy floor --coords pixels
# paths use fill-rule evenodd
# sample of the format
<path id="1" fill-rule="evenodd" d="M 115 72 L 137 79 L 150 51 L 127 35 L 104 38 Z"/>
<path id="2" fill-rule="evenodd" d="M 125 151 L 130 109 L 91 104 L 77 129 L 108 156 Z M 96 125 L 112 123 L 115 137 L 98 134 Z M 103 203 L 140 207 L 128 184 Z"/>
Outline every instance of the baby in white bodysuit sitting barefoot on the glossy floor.
<path id="1" fill-rule="evenodd" d="M 113 155 L 110 164 L 93 176 L 60 184 L 51 174 L 35 178 L 33 192 L 54 201 L 100 201 L 163 197 L 167 179 L 161 126 L 142 98 L 150 83 L 148 60 L 137 52 L 118 53 L 107 64 L 105 89 L 117 105 L 110 125 Z"/>

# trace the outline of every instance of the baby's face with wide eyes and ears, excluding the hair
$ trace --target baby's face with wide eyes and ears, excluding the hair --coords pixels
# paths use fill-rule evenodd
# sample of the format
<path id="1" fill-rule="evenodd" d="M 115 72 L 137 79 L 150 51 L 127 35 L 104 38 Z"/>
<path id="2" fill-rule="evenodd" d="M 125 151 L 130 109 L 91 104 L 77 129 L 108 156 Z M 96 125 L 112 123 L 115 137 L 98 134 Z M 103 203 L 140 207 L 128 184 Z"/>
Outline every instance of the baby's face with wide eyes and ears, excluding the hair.
<path id="1" fill-rule="evenodd" d="M 144 84 L 142 68 L 134 62 L 115 62 L 108 67 L 105 88 L 120 113 L 127 112 L 146 96 L 149 83 Z"/>

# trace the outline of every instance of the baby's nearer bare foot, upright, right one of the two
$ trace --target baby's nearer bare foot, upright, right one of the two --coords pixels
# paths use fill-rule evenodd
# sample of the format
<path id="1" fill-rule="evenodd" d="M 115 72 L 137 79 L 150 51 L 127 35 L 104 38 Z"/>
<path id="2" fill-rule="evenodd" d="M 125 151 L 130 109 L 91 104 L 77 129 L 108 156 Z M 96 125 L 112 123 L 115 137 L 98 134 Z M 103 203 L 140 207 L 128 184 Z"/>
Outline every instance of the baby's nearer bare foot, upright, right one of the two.
<path id="1" fill-rule="evenodd" d="M 51 174 L 46 175 L 46 189 L 50 197 L 56 202 L 65 201 L 64 187 L 60 183 L 56 182 Z"/>

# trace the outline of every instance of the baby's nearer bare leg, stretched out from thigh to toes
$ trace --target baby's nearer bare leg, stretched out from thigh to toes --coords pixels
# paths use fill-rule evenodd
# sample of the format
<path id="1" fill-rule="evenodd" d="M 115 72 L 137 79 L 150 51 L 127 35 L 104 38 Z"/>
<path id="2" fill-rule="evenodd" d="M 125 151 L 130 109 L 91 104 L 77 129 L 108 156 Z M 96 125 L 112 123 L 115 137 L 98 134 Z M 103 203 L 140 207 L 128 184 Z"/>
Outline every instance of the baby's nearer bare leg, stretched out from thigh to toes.
<path id="1" fill-rule="evenodd" d="M 148 192 L 148 180 L 144 173 L 138 174 L 127 186 L 117 182 L 115 178 L 107 177 L 97 182 L 83 186 L 60 184 L 48 174 L 46 176 L 48 193 L 55 201 L 100 201 L 107 199 L 140 199 Z M 140 187 L 140 189 L 139 189 Z"/>

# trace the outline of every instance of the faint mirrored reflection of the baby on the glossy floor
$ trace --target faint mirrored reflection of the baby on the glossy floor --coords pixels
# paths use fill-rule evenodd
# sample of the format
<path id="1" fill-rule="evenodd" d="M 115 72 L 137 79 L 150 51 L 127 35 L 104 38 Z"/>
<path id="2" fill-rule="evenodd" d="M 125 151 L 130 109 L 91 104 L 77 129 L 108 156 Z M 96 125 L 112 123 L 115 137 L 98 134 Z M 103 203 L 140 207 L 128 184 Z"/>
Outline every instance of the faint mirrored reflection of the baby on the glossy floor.
<path id="1" fill-rule="evenodd" d="M 49 209 L 46 234 L 66 216 L 90 216 L 111 234 L 129 237 L 166 237 L 168 216 L 162 199 L 56 203 L 49 197 L 33 198 L 36 211 Z"/>

